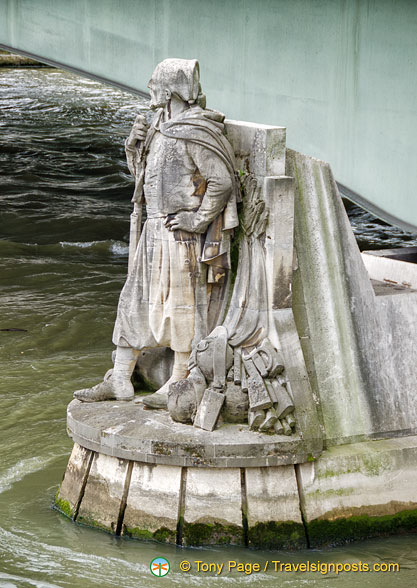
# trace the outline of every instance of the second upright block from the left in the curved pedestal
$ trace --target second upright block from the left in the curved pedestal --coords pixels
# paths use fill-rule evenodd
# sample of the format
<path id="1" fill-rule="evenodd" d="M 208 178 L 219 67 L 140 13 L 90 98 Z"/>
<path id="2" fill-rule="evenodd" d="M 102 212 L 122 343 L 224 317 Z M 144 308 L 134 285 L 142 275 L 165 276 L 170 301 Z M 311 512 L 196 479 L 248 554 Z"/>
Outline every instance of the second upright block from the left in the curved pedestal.
<path id="1" fill-rule="evenodd" d="M 127 460 L 95 454 L 78 512 L 78 522 L 116 532 L 127 471 Z"/>

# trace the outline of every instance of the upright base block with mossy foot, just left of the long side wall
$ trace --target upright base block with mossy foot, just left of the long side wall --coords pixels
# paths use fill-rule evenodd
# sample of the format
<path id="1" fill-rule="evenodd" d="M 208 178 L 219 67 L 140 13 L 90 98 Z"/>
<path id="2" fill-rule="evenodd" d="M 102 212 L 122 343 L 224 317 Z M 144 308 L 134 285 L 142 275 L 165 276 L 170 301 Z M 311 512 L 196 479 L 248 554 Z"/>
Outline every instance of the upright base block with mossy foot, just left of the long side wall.
<path id="1" fill-rule="evenodd" d="M 247 468 L 245 479 L 249 545 L 306 547 L 294 467 Z"/>

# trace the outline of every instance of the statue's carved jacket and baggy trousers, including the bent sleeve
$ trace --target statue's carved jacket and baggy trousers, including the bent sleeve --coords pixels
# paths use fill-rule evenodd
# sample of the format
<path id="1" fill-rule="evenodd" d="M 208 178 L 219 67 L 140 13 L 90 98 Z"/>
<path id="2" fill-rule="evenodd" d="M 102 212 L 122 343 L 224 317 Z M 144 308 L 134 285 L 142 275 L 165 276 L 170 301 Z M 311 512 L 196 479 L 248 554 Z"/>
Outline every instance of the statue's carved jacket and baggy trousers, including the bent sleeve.
<path id="1" fill-rule="evenodd" d="M 147 220 L 120 294 L 115 345 L 188 352 L 195 336 L 206 336 L 206 266 L 199 261 L 203 233 L 224 209 L 231 189 L 226 165 L 210 149 L 156 132 L 146 159 Z M 167 215 L 180 211 L 195 211 L 198 232 L 165 227 Z"/>

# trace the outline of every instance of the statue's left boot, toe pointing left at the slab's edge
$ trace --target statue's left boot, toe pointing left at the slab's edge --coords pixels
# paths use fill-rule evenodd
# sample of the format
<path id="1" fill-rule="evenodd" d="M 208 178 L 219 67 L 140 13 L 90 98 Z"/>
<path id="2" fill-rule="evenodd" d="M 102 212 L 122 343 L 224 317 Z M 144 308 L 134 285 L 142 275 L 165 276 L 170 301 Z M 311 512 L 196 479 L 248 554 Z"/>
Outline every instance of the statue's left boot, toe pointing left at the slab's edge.
<path id="1" fill-rule="evenodd" d="M 130 378 L 135 369 L 139 351 L 132 347 L 117 347 L 114 367 L 104 377 L 104 382 L 92 388 L 74 392 L 74 398 L 82 402 L 100 402 L 102 400 L 133 400 L 135 392 Z"/>

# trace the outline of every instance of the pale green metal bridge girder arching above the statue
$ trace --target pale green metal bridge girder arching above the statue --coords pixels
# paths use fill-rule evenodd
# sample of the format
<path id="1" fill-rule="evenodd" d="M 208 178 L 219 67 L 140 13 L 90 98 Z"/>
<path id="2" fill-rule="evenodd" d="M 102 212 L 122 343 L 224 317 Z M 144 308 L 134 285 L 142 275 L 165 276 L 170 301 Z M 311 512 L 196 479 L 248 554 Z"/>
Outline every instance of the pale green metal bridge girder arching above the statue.
<path id="1" fill-rule="evenodd" d="M 417 230 L 416 0 L 0 0 L 0 45 L 137 93 L 162 59 L 197 58 L 209 107 L 286 126 Z"/>

